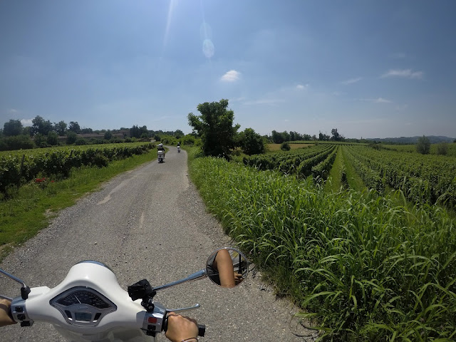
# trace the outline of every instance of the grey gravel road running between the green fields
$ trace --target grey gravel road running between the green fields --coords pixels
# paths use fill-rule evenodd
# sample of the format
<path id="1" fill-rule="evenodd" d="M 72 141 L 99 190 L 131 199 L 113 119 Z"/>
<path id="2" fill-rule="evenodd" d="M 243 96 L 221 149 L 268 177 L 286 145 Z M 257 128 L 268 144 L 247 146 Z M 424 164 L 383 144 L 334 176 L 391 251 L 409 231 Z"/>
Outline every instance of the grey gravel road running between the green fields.
<path id="1" fill-rule="evenodd" d="M 105 183 L 64 209 L 48 228 L 10 254 L 0 268 L 31 287 L 56 286 L 78 261 L 108 264 L 124 289 L 140 279 L 152 286 L 204 267 L 209 254 L 232 245 L 207 213 L 187 176 L 187 153 L 170 147 L 165 162 L 147 163 Z M 209 279 L 160 291 L 155 300 L 167 308 L 201 304 L 189 311 L 206 324 L 199 341 L 314 341 L 287 301 L 277 299 L 255 272 L 235 289 Z M 19 296 L 19 284 L 0 276 L 0 292 Z M 299 328 L 297 328 L 299 327 Z M 48 323 L 1 328 L 1 341 L 63 341 Z M 159 336 L 159 341 L 167 341 Z"/>

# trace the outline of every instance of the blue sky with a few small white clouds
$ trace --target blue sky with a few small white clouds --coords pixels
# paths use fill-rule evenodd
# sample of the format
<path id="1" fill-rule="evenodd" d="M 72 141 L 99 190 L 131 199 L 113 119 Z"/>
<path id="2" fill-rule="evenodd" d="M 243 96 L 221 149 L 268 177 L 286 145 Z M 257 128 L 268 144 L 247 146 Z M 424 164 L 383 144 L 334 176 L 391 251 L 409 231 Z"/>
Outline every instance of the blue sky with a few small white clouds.
<path id="1" fill-rule="evenodd" d="M 456 138 L 456 1 L 0 1 L 0 125 Z"/>

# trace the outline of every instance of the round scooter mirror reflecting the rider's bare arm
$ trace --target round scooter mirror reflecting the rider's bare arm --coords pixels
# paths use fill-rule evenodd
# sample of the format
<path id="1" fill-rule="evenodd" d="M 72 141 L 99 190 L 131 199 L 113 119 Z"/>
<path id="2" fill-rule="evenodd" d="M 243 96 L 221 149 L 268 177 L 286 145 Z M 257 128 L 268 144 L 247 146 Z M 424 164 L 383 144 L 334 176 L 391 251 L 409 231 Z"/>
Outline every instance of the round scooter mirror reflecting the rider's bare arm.
<path id="1" fill-rule="evenodd" d="M 242 252 L 231 247 L 217 249 L 206 263 L 209 279 L 222 287 L 234 287 L 242 283 L 249 273 L 249 261 Z"/>

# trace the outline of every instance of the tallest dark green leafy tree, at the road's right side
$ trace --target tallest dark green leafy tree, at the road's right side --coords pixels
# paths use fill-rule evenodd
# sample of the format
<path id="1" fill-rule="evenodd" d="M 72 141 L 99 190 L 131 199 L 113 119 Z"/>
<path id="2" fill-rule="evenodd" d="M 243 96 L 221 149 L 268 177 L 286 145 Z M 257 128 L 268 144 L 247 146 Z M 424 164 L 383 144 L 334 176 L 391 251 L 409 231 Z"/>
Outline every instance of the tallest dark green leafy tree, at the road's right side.
<path id="1" fill-rule="evenodd" d="M 188 124 L 201 136 L 204 155 L 229 159 L 234 148 L 234 135 L 239 125 L 233 126 L 234 112 L 227 110 L 228 100 L 199 103 L 201 115 L 188 114 Z"/>

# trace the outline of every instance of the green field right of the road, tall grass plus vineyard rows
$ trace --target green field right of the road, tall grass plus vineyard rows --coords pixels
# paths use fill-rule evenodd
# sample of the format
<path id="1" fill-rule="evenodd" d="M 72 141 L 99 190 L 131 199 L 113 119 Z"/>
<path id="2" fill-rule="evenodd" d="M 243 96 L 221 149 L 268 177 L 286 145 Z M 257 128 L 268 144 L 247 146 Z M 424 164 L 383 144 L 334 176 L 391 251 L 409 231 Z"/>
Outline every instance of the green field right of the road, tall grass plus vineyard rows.
<path id="1" fill-rule="evenodd" d="M 190 173 L 323 341 L 455 341 L 455 158 L 335 151 L 332 162 L 317 147 L 245 157 L 252 167 L 198 158 Z"/>

